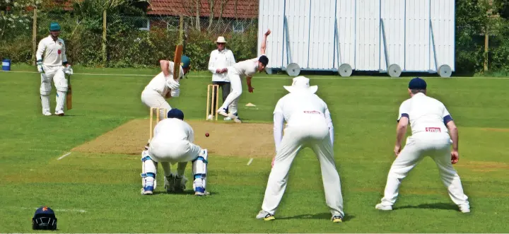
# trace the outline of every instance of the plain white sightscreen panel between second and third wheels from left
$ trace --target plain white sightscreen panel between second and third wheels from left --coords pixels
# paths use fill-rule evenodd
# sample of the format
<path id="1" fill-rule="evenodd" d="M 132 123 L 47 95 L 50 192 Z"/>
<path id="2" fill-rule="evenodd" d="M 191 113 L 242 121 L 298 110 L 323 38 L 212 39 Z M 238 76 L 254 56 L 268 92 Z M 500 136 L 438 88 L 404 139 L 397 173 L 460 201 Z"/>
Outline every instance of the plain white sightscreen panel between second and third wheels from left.
<path id="1" fill-rule="evenodd" d="M 380 0 L 358 0 L 356 6 L 356 69 L 380 68 Z"/>

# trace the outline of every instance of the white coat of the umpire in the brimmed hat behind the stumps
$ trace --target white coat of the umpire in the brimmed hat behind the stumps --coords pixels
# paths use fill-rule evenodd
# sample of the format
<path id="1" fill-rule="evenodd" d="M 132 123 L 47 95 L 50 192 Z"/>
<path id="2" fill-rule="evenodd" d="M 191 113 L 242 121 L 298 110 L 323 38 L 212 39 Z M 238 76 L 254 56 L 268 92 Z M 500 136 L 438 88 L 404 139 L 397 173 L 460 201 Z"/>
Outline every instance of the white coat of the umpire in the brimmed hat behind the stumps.
<path id="1" fill-rule="evenodd" d="M 219 49 L 214 49 L 209 59 L 209 71 L 212 73 L 212 81 L 229 82 L 228 72 L 218 74 L 216 70 L 228 68 L 233 64 L 235 64 L 235 57 L 233 57 L 233 52 L 231 52 L 230 49 L 225 48 L 221 51 L 219 51 Z"/>

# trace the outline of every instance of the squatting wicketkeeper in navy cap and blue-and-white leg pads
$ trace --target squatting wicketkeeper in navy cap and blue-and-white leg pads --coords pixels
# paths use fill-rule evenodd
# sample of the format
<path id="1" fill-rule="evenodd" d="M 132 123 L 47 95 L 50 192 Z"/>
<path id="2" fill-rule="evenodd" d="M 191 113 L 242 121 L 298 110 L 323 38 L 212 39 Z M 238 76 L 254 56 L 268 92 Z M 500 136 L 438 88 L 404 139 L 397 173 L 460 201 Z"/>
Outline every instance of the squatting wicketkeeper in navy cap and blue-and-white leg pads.
<path id="1" fill-rule="evenodd" d="M 143 168 L 141 194 L 153 194 L 156 188 L 157 165 L 163 166 L 166 192 L 182 192 L 185 189 L 185 168 L 192 161 L 193 189 L 197 196 L 205 195 L 208 153 L 193 144 L 194 131 L 184 122 L 184 113 L 178 109 L 168 112 L 168 119 L 161 120 L 154 128 L 154 136 L 146 150 L 141 153 Z M 170 165 L 178 163 L 177 173 Z"/>

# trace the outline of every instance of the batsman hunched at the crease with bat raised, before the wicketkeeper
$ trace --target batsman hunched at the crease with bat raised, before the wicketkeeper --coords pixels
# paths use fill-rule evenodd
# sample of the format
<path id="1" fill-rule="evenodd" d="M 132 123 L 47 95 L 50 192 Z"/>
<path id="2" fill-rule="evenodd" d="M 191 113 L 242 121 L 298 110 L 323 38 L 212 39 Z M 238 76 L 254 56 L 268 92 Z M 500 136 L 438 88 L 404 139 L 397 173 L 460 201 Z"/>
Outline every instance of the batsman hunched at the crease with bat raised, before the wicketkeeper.
<path id="1" fill-rule="evenodd" d="M 180 79 L 189 72 L 191 67 L 191 59 L 183 55 L 181 59 L 180 74 L 173 74 L 175 64 L 168 60 L 159 61 L 161 72 L 152 78 L 145 89 L 141 92 L 141 102 L 147 107 L 161 108 L 160 119 L 164 119 L 167 113 L 164 112 L 171 110 L 170 104 L 165 98 L 178 97 L 180 95 Z M 174 76 L 177 76 L 175 81 Z M 170 91 L 171 90 L 171 91 Z"/>

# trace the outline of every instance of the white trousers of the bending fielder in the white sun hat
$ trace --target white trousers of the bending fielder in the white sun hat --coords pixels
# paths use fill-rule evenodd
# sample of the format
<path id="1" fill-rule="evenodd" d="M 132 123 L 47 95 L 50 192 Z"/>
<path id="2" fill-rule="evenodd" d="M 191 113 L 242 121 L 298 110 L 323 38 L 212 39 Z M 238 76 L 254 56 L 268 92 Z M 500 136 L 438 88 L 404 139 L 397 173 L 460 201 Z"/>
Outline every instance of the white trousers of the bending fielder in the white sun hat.
<path id="1" fill-rule="evenodd" d="M 288 182 L 288 170 L 300 149 L 312 148 L 322 170 L 325 201 L 333 216 L 344 217 L 341 182 L 334 163 L 334 149 L 329 136 L 329 127 L 321 115 L 308 115 L 300 124 L 290 125 L 277 149 L 274 165 L 269 175 L 262 210 L 275 213 Z"/>

